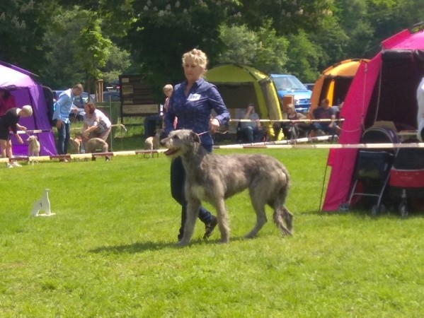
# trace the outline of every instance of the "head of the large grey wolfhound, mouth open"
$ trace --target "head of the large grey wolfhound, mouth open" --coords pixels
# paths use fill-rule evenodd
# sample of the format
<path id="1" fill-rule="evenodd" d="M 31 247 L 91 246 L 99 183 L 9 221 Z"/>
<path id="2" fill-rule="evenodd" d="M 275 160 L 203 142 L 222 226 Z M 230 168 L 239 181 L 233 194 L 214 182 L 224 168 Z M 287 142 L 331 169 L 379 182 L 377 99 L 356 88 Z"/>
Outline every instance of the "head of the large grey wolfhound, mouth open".
<path id="1" fill-rule="evenodd" d="M 188 151 L 193 150 L 197 145 L 200 145 L 200 137 L 194 131 L 181 129 L 171 131 L 168 138 L 161 140 L 161 145 L 168 148 L 165 155 L 171 158 L 176 158 L 178 155 L 183 155 Z"/>

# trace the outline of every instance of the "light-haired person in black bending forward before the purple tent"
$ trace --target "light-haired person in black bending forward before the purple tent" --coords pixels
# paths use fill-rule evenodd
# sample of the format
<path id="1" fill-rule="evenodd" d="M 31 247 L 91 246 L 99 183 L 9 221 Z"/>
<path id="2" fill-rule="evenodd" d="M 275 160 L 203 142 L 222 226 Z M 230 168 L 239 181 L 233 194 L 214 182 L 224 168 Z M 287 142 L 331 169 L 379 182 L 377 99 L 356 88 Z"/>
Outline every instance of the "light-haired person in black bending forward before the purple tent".
<path id="1" fill-rule="evenodd" d="M 25 105 L 22 108 L 13 107 L 8 110 L 3 117 L 0 118 L 0 148 L 1 158 L 9 158 L 10 163 L 6 164 L 6 167 L 21 167 L 19 163 L 12 160 L 12 142 L 9 134 L 9 129 L 13 131 L 18 143 L 23 143 L 21 136 L 18 135 L 18 130 L 26 130 L 25 126 L 18 124 L 19 118 L 28 117 L 33 114 L 33 107 Z"/>

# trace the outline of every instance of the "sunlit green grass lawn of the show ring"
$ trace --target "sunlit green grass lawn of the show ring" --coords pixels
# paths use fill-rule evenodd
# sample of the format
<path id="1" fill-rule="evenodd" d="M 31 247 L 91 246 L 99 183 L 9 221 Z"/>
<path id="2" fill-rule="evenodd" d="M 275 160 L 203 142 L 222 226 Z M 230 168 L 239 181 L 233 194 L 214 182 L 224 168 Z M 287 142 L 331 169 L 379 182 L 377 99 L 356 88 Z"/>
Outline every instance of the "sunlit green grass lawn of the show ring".
<path id="1" fill-rule="evenodd" d="M 141 155 L 0 168 L 0 317 L 422 317 L 424 220 L 318 212 L 327 151 L 245 150 L 290 170 L 293 237 L 227 201 L 219 232 L 175 246 L 169 160 Z M 50 218 L 30 216 L 50 188 Z M 209 206 L 210 207 L 210 206 Z M 270 211 L 268 211 L 270 218 Z"/>

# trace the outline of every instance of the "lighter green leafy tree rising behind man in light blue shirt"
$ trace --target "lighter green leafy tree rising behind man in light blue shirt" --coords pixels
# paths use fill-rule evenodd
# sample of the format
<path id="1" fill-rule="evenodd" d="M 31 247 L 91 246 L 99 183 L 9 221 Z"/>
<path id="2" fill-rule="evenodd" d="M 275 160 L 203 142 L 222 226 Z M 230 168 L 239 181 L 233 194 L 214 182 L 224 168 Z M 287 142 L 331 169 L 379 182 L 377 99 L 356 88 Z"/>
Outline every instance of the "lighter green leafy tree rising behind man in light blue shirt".
<path id="1" fill-rule="evenodd" d="M 58 8 L 45 35 L 45 42 L 52 43 L 46 54 L 50 67 L 40 74 L 47 86 L 66 88 L 77 82 L 91 85 L 104 73 L 108 80 L 112 74 L 118 78 L 130 66 L 128 52 L 113 44 L 102 25 L 96 12 L 79 6 Z"/>

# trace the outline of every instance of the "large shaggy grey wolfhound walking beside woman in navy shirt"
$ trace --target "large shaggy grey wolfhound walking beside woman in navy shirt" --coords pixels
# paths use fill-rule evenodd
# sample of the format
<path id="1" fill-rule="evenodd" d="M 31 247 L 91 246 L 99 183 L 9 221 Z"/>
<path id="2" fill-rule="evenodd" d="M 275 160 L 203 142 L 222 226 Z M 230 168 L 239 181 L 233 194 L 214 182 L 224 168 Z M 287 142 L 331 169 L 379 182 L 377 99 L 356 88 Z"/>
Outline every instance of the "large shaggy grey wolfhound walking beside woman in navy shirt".
<path id="1" fill-rule="evenodd" d="M 224 200 L 249 190 L 256 211 L 256 225 L 247 238 L 254 237 L 267 222 L 265 205 L 274 210 L 273 218 L 282 234 L 292 235 L 293 215 L 285 207 L 289 189 L 289 173 L 280 161 L 269 155 L 212 155 L 200 145 L 200 137 L 191 130 L 171 131 L 162 139 L 171 158 L 181 156 L 185 173 L 187 219 L 180 245 L 187 245 L 193 236 L 201 201 L 217 210 L 221 242 L 229 241 L 229 224 Z"/>

